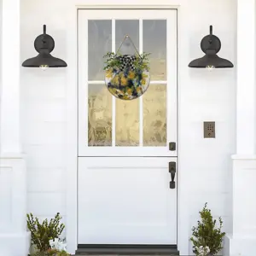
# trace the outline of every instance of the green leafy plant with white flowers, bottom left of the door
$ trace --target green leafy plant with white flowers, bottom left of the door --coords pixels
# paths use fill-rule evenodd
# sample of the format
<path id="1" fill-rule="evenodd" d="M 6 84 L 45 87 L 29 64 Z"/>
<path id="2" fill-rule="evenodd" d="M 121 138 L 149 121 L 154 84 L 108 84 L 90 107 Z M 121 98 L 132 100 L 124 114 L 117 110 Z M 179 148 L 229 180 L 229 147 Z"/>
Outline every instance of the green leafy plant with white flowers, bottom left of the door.
<path id="1" fill-rule="evenodd" d="M 69 256 L 66 244 L 60 239 L 65 228 L 60 224 L 61 215 L 59 212 L 55 218 L 44 219 L 42 223 L 38 218 L 34 218 L 32 213 L 26 214 L 27 229 L 31 231 L 31 251 L 30 256 Z"/>

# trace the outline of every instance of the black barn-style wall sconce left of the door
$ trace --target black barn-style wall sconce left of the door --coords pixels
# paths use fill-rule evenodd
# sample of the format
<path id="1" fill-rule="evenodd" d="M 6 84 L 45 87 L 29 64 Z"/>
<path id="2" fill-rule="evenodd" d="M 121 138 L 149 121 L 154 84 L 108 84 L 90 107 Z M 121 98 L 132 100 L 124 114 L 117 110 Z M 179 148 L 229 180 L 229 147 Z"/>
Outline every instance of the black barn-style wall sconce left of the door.
<path id="1" fill-rule="evenodd" d="M 55 40 L 46 33 L 46 25 L 44 25 L 44 34 L 35 39 L 34 47 L 38 55 L 24 61 L 22 67 L 40 67 L 43 70 L 48 67 L 67 67 L 65 61 L 50 55 L 55 49 Z"/>

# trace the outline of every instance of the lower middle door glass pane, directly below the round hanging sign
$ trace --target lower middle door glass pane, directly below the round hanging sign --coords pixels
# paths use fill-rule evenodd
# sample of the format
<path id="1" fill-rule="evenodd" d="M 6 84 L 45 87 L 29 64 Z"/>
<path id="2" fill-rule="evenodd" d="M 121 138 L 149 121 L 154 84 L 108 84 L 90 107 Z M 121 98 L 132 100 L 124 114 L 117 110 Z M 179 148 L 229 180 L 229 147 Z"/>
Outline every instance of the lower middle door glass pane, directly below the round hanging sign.
<path id="1" fill-rule="evenodd" d="M 139 145 L 139 101 L 116 100 L 116 146 Z"/>

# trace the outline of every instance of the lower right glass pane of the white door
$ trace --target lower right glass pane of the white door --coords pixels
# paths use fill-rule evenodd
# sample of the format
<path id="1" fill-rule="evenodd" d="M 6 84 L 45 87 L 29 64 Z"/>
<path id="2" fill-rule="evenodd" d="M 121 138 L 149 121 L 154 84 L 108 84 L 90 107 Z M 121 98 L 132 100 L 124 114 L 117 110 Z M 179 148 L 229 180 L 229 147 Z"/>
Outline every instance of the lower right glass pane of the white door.
<path id="1" fill-rule="evenodd" d="M 150 84 L 143 96 L 143 146 L 166 146 L 166 84 Z"/>

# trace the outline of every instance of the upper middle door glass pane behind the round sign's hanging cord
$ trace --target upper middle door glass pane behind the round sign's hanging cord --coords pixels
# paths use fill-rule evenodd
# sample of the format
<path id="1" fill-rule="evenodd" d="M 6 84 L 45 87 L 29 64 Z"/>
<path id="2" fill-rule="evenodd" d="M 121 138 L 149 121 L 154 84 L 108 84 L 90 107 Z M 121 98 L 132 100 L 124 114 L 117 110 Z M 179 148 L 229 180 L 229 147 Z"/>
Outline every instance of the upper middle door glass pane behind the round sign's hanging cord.
<path id="1" fill-rule="evenodd" d="M 125 38 L 125 35 L 129 35 L 133 44 L 135 44 L 137 50 L 139 46 L 139 20 L 116 20 L 115 21 L 115 49 L 118 50 L 120 44 Z M 125 40 L 122 47 L 119 49 L 119 53 L 123 55 L 133 55 L 136 53 L 131 41 Z"/>

